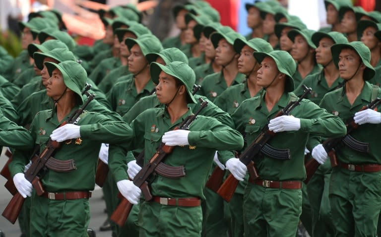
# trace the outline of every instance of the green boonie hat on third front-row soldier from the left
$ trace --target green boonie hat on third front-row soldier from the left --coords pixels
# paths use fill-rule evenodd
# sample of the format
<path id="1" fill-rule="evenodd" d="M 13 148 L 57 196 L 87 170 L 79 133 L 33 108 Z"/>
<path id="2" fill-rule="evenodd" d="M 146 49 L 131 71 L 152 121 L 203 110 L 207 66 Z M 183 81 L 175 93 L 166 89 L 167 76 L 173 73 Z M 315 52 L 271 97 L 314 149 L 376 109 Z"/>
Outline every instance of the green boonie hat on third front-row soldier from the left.
<path id="1" fill-rule="evenodd" d="M 296 63 L 289 53 L 286 51 L 275 50 L 270 53 L 254 52 L 253 55 L 258 63 L 261 63 L 266 57 L 273 59 L 278 67 L 278 70 L 288 77 L 284 90 L 286 92 L 294 91 L 295 85 L 292 75 L 294 75 L 296 71 Z"/>

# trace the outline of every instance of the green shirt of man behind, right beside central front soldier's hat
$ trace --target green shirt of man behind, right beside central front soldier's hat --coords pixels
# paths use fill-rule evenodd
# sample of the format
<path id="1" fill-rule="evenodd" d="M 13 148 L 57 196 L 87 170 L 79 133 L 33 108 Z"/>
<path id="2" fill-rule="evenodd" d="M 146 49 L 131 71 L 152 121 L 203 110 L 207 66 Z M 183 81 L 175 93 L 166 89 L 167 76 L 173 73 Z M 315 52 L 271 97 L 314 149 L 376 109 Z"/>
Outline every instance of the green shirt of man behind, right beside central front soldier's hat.
<path id="1" fill-rule="evenodd" d="M 238 73 L 230 86 L 244 82 L 245 75 Z M 201 83 L 201 89 L 198 94 L 206 96 L 209 100 L 214 101 L 223 91 L 228 88 L 222 72 L 216 72 L 206 76 Z"/>

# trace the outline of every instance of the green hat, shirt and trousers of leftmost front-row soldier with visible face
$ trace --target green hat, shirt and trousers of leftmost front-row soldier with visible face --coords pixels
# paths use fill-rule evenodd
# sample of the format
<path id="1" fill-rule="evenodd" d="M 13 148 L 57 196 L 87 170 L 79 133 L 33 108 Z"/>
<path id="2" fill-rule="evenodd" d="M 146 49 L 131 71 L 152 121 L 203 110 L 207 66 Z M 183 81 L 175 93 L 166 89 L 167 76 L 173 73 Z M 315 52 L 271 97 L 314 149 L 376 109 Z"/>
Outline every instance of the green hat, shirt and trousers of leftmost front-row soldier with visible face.
<path id="1" fill-rule="evenodd" d="M 50 74 L 55 68 L 62 72 L 65 85 L 81 98 L 78 103 L 82 104 L 81 89 L 86 78 L 83 67 L 73 61 L 65 61 L 60 64 L 47 62 L 46 65 Z M 78 108 L 77 104 L 69 115 Z M 100 144 L 102 142 L 126 142 L 131 136 L 130 127 L 122 121 L 87 111 L 79 118 L 77 124 L 80 125 L 81 137 L 63 142 L 62 147 L 55 153 L 55 158 L 58 160 L 72 158 L 76 169 L 69 173 L 48 169 L 41 178 L 46 192 L 65 193 L 67 191 L 93 190 Z M 49 135 L 61 122 L 58 121 L 56 109 L 38 113 L 30 127 L 30 145 L 41 145 L 40 151 L 42 151 Z M 98 144 L 98 149 L 94 149 L 96 144 Z M 17 151 L 14 154 L 13 161 L 9 165 L 12 176 L 23 173 L 24 166 L 28 163 L 28 157 L 25 155 L 17 153 Z M 64 213 L 66 216 L 62 218 Z M 86 237 L 87 225 L 90 220 L 88 198 L 54 200 L 54 198 L 37 196 L 34 193 L 31 200 L 31 220 L 31 236 Z"/>

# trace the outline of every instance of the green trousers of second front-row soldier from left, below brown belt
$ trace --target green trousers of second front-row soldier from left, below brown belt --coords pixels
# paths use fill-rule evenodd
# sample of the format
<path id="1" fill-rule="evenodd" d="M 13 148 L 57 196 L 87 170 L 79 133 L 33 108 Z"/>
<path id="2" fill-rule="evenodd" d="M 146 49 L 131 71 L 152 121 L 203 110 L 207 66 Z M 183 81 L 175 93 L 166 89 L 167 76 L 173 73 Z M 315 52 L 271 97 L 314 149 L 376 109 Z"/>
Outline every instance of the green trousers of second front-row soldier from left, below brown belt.
<path id="1" fill-rule="evenodd" d="M 200 237 L 201 207 L 166 206 L 140 203 L 139 237 Z"/>

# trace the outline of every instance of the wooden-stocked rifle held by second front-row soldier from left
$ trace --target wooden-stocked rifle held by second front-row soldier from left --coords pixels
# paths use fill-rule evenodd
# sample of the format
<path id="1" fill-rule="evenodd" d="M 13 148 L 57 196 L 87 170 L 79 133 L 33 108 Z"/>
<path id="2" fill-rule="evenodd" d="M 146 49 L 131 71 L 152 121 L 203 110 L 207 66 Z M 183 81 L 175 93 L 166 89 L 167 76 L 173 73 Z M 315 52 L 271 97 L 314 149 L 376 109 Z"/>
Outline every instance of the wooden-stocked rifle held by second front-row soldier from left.
<path id="1" fill-rule="evenodd" d="M 194 115 L 190 115 L 186 119 L 184 119 L 184 121 L 179 126 L 176 126 L 173 130 L 189 129 L 191 122 L 194 119 L 196 119 L 196 116 L 208 104 L 208 102 L 204 101 L 202 98 L 199 98 L 198 100 L 201 103 L 201 108 Z M 158 165 L 161 164 L 162 161 L 164 161 L 167 155 L 172 153 L 174 148 L 175 148 L 174 146 L 167 146 L 164 143 L 161 143 L 160 146 L 156 149 L 155 154 L 149 160 L 149 162 L 145 164 L 142 167 L 142 169 L 133 178 L 133 184 L 135 184 L 137 187 L 139 187 L 142 190 L 142 193 L 146 201 L 149 201 L 152 199 L 152 195 L 149 191 L 147 180 L 155 172 Z M 127 220 L 129 212 L 131 211 L 131 208 L 132 208 L 132 204 L 129 203 L 128 200 L 122 196 L 122 200 L 120 204 L 115 209 L 114 213 L 111 215 L 111 220 L 114 221 L 119 226 L 123 226 Z"/>

